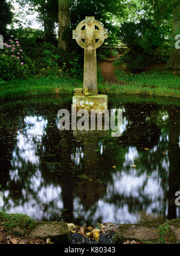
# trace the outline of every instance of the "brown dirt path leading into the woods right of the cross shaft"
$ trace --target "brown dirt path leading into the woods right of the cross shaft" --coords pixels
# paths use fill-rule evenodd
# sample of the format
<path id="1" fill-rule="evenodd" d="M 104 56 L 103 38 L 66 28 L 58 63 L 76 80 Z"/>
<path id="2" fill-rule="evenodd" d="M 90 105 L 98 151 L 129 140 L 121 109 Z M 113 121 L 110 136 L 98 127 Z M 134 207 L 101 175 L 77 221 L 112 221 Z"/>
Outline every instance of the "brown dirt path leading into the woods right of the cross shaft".
<path id="1" fill-rule="evenodd" d="M 115 60 L 116 58 L 106 58 L 106 61 L 102 61 L 99 64 L 99 67 L 101 69 L 101 75 L 104 78 L 104 83 L 107 82 L 109 84 L 122 84 L 116 79 L 115 76 L 115 67 L 113 66 L 113 61 Z"/>

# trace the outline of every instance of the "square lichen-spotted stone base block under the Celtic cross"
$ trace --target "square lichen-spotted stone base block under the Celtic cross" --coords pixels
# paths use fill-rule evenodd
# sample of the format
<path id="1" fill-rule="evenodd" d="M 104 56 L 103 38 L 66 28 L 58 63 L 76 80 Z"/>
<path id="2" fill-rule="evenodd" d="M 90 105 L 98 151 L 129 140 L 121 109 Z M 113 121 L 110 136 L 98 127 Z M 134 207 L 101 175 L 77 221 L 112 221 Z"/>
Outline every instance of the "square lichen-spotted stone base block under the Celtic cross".
<path id="1" fill-rule="evenodd" d="M 107 95 L 95 96 L 74 96 L 73 97 L 73 110 L 86 109 L 88 112 L 91 109 L 101 112 L 107 109 Z"/>

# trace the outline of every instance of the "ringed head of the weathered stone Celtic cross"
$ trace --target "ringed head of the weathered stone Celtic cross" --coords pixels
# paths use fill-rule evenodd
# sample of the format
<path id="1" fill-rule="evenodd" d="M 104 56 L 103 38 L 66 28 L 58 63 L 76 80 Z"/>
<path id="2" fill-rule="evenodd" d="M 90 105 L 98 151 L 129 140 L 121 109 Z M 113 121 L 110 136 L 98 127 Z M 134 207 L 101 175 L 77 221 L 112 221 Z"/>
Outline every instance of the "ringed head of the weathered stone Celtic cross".
<path id="1" fill-rule="evenodd" d="M 83 49 L 88 46 L 94 46 L 97 49 L 103 44 L 104 39 L 107 39 L 107 30 L 94 17 L 86 17 L 77 25 L 76 30 L 73 30 L 73 39 L 76 39 L 78 45 Z M 96 42 L 96 40 L 98 41 Z"/>

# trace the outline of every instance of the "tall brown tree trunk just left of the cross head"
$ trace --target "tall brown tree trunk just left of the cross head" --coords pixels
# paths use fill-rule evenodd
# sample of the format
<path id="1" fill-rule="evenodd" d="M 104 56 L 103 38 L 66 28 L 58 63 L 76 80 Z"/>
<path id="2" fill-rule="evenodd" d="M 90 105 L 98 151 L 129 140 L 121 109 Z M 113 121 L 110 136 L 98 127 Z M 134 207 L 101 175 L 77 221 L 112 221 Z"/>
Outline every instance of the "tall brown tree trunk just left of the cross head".
<path id="1" fill-rule="evenodd" d="M 66 49 L 66 43 L 62 40 L 62 34 L 65 28 L 70 26 L 70 4 L 68 0 L 58 0 L 59 1 L 59 40 L 58 48 L 62 47 Z"/>

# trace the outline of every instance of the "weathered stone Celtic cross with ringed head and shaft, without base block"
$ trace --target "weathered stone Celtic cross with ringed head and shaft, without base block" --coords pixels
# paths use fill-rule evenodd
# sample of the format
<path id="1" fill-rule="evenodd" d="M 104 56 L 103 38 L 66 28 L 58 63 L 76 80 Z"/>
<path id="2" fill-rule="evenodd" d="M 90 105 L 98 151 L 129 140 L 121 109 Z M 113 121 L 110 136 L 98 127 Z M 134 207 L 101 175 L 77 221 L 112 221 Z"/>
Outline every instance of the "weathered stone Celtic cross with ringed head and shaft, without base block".
<path id="1" fill-rule="evenodd" d="M 94 17 L 86 17 L 77 25 L 76 30 L 73 30 L 73 39 L 85 49 L 83 92 L 88 87 L 91 95 L 97 95 L 96 49 L 102 45 L 104 39 L 107 39 L 107 30 Z"/>

